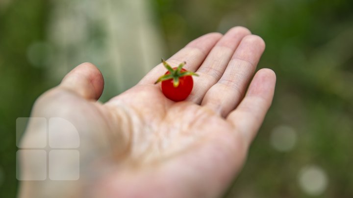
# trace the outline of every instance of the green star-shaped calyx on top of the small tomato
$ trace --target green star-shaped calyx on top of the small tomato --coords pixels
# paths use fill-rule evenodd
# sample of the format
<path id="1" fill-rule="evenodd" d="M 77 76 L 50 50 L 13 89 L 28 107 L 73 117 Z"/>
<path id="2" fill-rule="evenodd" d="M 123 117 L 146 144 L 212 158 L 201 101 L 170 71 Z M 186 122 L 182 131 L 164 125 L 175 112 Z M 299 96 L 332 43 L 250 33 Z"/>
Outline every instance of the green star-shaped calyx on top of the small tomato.
<path id="1" fill-rule="evenodd" d="M 158 82 L 166 81 L 166 80 L 171 80 L 173 79 L 173 86 L 177 88 L 180 84 L 180 78 L 185 77 L 185 76 L 199 76 L 198 74 L 192 72 L 192 71 L 187 71 L 183 69 L 182 67 L 186 64 L 186 62 L 181 63 L 179 66 L 172 68 L 167 62 L 165 62 L 162 59 L 163 65 L 168 69 L 167 73 L 164 74 L 163 76 L 159 77 L 158 80 L 154 83 L 157 84 Z"/>

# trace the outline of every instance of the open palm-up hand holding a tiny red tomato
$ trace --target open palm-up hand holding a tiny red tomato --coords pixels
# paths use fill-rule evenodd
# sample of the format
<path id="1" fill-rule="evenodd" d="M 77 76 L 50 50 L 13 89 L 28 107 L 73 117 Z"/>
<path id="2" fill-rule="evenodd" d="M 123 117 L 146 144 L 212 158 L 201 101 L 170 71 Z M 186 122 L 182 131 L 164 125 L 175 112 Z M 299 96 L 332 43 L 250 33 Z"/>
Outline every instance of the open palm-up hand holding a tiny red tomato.
<path id="1" fill-rule="evenodd" d="M 275 73 L 261 69 L 252 78 L 264 48 L 263 40 L 244 27 L 187 44 L 167 62 L 186 61 L 185 69 L 200 77 L 194 77 L 186 101 L 177 103 L 153 84 L 166 71 L 162 64 L 104 104 L 96 101 L 104 84 L 100 71 L 89 63 L 77 66 L 36 101 L 31 116 L 61 117 L 76 127 L 80 177 L 23 181 L 20 196 L 221 196 L 240 171 L 272 102 Z M 37 128 L 28 125 L 24 145 L 37 141 Z M 34 174 L 28 160 L 22 156 L 22 172 Z"/>

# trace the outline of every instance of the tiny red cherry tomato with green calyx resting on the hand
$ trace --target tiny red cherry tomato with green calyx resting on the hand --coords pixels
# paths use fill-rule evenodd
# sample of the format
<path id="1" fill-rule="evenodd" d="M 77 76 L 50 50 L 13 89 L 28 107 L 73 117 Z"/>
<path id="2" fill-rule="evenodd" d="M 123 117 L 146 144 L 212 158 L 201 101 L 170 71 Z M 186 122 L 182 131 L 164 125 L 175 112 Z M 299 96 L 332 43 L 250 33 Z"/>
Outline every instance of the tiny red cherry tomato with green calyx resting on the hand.
<path id="1" fill-rule="evenodd" d="M 192 75 L 198 75 L 182 68 L 185 62 L 174 68 L 164 60 L 162 60 L 162 63 L 168 71 L 158 78 L 155 83 L 162 82 L 162 92 L 167 98 L 176 102 L 185 100 L 190 95 L 194 85 Z"/>

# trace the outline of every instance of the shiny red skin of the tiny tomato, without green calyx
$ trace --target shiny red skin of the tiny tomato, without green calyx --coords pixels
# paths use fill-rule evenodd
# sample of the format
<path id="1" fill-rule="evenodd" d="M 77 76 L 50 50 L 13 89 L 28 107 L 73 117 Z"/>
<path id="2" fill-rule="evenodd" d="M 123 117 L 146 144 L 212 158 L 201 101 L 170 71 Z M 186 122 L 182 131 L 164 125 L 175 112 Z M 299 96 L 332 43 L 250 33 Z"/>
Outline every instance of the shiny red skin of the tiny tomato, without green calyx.
<path id="1" fill-rule="evenodd" d="M 173 69 L 176 69 L 176 67 Z M 181 72 L 182 71 L 186 71 L 186 69 L 182 68 Z M 169 74 L 169 73 L 170 72 L 167 71 L 165 74 Z M 192 76 L 180 77 L 179 86 L 176 88 L 173 86 L 173 79 L 162 81 L 162 85 L 161 85 L 163 94 L 167 98 L 175 102 L 185 100 L 190 95 L 193 86 L 194 86 L 194 81 L 192 79 Z"/>

